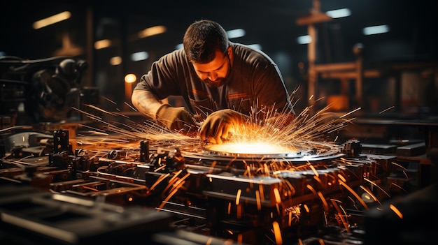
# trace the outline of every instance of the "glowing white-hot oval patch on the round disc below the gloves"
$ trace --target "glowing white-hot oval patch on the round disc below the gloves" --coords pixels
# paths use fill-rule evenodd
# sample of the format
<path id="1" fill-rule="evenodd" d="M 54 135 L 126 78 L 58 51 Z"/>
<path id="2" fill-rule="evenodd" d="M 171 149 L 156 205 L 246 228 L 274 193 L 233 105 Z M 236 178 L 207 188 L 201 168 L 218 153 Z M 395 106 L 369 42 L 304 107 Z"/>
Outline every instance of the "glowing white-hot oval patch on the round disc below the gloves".
<path id="1" fill-rule="evenodd" d="M 221 151 L 234 154 L 286 154 L 292 149 L 283 147 L 278 144 L 267 144 L 264 142 L 248 142 L 248 143 L 223 143 L 212 144 L 209 146 L 212 151 Z"/>

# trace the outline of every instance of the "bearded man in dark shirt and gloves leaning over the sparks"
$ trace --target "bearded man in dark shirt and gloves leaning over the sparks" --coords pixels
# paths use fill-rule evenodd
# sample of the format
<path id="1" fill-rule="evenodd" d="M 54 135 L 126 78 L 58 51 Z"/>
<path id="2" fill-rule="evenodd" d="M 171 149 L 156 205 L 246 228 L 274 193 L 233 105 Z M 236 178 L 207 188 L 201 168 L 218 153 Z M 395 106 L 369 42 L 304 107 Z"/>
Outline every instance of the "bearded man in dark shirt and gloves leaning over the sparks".
<path id="1" fill-rule="evenodd" d="M 183 46 L 155 61 L 141 77 L 132 93 L 139 112 L 171 131 L 199 131 L 202 140 L 212 143 L 222 143 L 233 126 L 255 114 L 262 120 L 267 109 L 295 117 L 274 61 L 258 50 L 230 42 L 217 22 L 192 23 Z M 168 96 L 182 96 L 187 106 L 162 103 Z"/>

